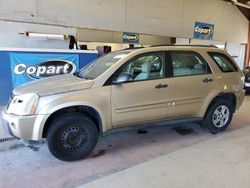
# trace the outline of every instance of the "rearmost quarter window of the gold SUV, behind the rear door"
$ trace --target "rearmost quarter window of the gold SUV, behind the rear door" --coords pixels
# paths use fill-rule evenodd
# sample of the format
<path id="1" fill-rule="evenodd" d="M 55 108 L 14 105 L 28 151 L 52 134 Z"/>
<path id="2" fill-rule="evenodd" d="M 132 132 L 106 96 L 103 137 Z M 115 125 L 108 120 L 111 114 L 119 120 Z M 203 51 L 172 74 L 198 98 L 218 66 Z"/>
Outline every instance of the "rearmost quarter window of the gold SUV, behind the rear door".
<path id="1" fill-rule="evenodd" d="M 219 52 L 208 52 L 222 72 L 237 72 L 238 68 L 234 62 L 225 54 Z"/>

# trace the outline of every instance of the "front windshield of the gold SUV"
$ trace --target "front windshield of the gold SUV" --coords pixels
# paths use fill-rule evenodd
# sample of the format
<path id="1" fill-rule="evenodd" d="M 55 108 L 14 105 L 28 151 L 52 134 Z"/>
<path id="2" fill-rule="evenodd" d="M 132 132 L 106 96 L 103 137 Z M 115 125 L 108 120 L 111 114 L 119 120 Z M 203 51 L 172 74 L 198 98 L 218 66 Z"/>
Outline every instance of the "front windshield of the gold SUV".
<path id="1" fill-rule="evenodd" d="M 97 60 L 93 61 L 91 64 L 82 68 L 76 74 L 80 78 L 84 79 L 95 79 L 108 70 L 112 65 L 114 65 L 120 59 L 126 57 L 131 51 L 117 51 L 104 55 Z"/>

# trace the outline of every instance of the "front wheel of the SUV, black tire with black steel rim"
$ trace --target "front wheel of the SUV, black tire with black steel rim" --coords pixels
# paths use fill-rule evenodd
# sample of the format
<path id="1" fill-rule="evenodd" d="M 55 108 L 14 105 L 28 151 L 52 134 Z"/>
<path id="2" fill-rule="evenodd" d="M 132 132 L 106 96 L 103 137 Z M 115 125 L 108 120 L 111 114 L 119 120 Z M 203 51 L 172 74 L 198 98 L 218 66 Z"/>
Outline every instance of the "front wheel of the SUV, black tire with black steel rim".
<path id="1" fill-rule="evenodd" d="M 47 145 L 56 158 L 75 161 L 88 156 L 97 140 L 95 123 L 84 114 L 72 112 L 63 114 L 52 122 Z"/>

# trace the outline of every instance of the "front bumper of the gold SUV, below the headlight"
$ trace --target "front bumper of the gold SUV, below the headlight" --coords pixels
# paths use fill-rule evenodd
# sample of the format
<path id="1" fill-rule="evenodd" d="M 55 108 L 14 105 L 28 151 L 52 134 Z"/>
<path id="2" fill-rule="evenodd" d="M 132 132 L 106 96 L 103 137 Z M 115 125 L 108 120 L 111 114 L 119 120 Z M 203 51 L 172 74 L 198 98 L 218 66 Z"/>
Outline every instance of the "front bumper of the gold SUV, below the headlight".
<path id="1" fill-rule="evenodd" d="M 35 122 L 38 115 L 18 116 L 7 114 L 2 111 L 3 125 L 7 126 L 7 132 L 10 135 L 16 136 L 24 140 L 37 140 L 35 133 Z M 5 128 L 6 130 L 6 128 Z"/>

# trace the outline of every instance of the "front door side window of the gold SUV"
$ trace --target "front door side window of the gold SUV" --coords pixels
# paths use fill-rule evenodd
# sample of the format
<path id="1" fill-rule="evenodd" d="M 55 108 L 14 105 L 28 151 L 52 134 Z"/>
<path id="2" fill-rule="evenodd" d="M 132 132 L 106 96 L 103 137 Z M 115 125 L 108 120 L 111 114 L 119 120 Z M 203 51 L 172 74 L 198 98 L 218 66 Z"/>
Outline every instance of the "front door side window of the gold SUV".
<path id="1" fill-rule="evenodd" d="M 165 75 L 163 52 L 141 55 L 123 67 L 122 72 L 130 73 L 134 81 L 163 78 Z"/>

